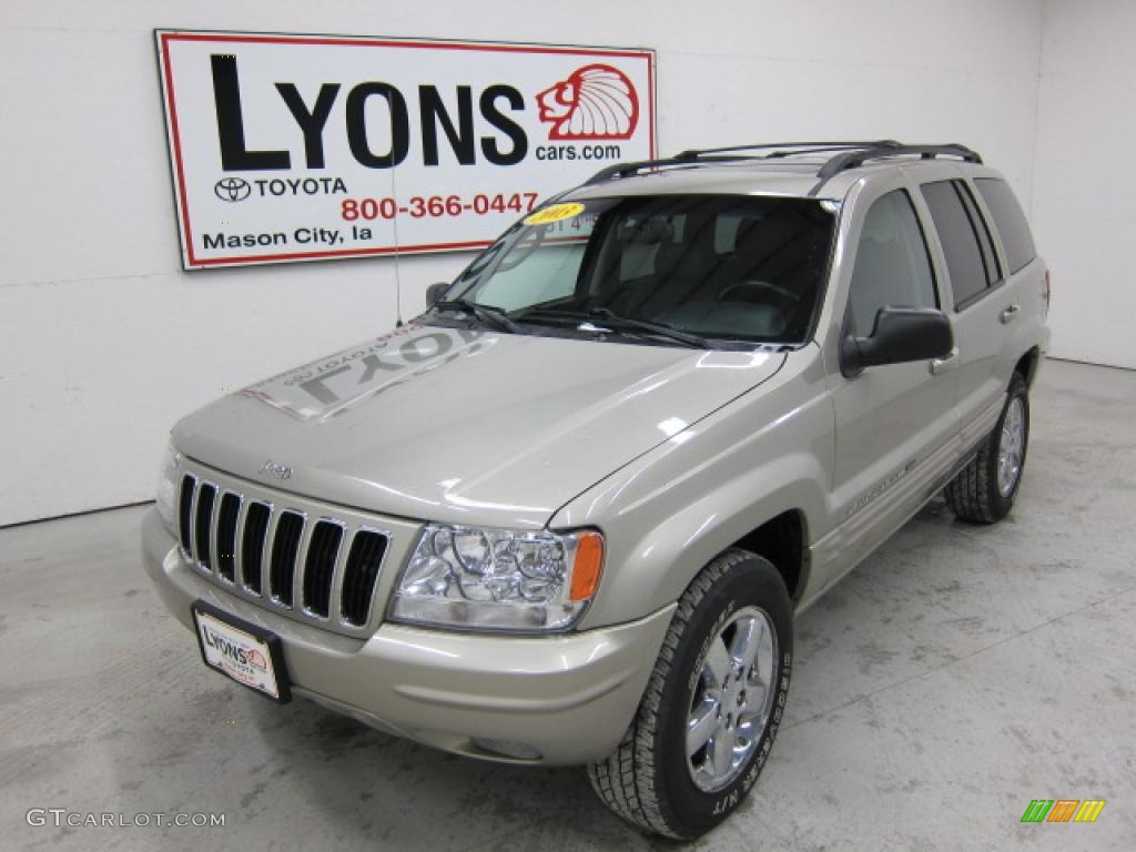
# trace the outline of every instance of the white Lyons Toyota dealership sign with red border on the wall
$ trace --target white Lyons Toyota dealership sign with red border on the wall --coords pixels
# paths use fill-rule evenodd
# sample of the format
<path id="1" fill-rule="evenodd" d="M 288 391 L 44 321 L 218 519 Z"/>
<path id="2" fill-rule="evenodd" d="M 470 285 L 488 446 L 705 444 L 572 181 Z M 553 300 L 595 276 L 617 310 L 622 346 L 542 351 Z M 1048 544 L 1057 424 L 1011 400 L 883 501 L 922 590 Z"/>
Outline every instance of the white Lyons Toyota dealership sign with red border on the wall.
<path id="1" fill-rule="evenodd" d="M 476 249 L 655 154 L 650 50 L 156 35 L 187 269 Z"/>

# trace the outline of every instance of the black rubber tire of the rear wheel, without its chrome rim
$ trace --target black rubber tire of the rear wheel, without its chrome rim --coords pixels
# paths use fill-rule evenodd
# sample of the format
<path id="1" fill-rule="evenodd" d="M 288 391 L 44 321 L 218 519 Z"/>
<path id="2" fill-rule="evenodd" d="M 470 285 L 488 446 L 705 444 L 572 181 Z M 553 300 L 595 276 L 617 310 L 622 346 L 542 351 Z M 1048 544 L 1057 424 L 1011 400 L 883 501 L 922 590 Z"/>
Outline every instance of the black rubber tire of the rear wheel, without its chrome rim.
<path id="1" fill-rule="evenodd" d="M 999 484 L 999 457 L 1002 442 L 1006 440 L 1006 416 L 1014 404 L 1021 406 L 1021 449 L 1018 471 L 1009 491 Z M 962 520 L 976 524 L 993 524 L 1001 520 L 1013 506 L 1021 485 L 1021 474 L 1026 467 L 1026 451 L 1029 449 L 1029 394 L 1026 379 L 1014 373 L 1010 390 L 997 425 L 983 442 L 982 449 L 959 475 L 946 486 L 943 495 L 951 511 Z"/>

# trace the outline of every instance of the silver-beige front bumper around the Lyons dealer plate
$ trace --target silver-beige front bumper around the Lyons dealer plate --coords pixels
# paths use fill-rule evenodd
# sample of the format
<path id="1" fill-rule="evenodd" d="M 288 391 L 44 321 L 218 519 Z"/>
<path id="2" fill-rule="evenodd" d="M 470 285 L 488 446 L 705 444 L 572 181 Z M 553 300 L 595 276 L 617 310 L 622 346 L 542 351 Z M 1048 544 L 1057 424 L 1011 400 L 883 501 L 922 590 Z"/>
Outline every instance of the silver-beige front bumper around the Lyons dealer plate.
<path id="1" fill-rule="evenodd" d="M 358 640 L 209 583 L 182 559 L 156 510 L 142 525 L 142 559 L 166 607 L 191 630 L 190 607 L 202 599 L 278 635 L 293 693 L 426 745 L 512 762 L 586 763 L 613 751 L 675 609 L 552 636 L 382 624 Z M 187 643 L 186 653 L 193 652 Z"/>

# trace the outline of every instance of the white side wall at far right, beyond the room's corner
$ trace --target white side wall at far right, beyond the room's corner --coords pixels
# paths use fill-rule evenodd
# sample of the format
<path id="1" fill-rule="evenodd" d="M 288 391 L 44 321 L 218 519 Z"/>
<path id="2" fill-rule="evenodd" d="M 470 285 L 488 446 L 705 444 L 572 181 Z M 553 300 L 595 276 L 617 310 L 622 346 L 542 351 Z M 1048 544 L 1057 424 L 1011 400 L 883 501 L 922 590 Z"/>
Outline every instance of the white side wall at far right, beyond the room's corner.
<path id="1" fill-rule="evenodd" d="M 1043 5 L 1034 234 L 1052 354 L 1136 368 L 1136 3 Z"/>

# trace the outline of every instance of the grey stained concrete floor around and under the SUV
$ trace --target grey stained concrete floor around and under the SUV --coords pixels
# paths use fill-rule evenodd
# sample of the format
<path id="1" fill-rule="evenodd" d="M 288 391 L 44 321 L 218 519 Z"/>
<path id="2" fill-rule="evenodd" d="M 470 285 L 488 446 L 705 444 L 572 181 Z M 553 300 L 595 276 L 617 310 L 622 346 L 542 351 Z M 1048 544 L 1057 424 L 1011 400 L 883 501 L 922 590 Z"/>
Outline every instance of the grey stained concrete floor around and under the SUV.
<path id="1" fill-rule="evenodd" d="M 797 623 L 787 721 L 698 850 L 1130 850 L 1136 373 L 1050 362 L 1012 516 L 933 503 Z M 204 669 L 142 510 L 0 531 L 0 849 L 674 849 L 579 770 L 457 759 Z M 1105 799 L 1021 825 L 1031 799 Z M 28 826 L 30 808 L 224 828 Z"/>

